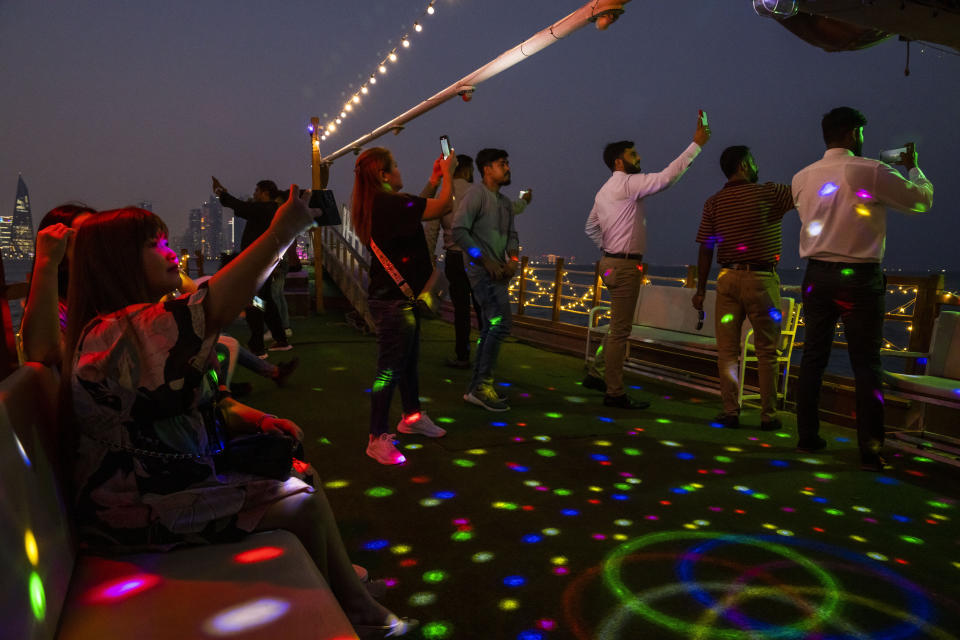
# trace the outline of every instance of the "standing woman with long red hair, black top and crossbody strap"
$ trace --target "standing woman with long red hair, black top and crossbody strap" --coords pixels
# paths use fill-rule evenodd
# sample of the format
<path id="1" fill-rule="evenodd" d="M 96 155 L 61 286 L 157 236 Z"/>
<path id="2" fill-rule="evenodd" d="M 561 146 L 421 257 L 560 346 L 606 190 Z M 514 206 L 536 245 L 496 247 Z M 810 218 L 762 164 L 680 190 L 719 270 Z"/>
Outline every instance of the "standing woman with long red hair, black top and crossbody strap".
<path id="1" fill-rule="evenodd" d="M 394 444 L 397 436 L 390 433 L 389 425 L 390 401 L 398 385 L 403 416 L 397 430 L 430 438 L 446 433 L 420 409 L 420 311 L 416 297 L 433 272 L 433 257 L 421 222 L 439 218 L 449 209 L 456 163 L 452 152 L 434 162 L 434 168 L 443 175 L 436 198 L 401 193 L 400 169 L 393 155 L 382 147 L 361 153 L 354 169 L 350 215 L 354 231 L 372 253 L 367 293 L 377 328 L 377 375 L 370 394 L 367 455 L 380 464 L 406 460 Z"/>

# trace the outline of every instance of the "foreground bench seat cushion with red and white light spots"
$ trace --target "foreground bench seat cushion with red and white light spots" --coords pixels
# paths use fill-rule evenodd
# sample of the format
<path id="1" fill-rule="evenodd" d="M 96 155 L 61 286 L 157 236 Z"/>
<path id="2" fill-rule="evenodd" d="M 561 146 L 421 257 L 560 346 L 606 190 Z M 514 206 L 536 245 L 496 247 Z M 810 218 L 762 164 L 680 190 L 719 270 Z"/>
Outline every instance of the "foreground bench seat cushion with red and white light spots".
<path id="1" fill-rule="evenodd" d="M 59 640 L 355 638 L 296 536 L 77 559 Z"/>

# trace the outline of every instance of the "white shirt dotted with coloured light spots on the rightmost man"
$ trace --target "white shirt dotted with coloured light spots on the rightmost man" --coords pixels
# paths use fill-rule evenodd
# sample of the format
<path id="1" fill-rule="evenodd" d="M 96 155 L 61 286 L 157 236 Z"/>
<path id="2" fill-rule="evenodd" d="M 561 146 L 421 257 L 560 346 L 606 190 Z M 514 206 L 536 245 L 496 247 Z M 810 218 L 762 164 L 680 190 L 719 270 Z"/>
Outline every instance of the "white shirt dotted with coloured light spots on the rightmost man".
<path id="1" fill-rule="evenodd" d="M 800 257 L 826 262 L 881 262 L 887 209 L 926 213 L 933 184 L 920 169 L 905 180 L 879 160 L 848 149 L 827 149 L 823 158 L 793 177 L 800 214 Z"/>

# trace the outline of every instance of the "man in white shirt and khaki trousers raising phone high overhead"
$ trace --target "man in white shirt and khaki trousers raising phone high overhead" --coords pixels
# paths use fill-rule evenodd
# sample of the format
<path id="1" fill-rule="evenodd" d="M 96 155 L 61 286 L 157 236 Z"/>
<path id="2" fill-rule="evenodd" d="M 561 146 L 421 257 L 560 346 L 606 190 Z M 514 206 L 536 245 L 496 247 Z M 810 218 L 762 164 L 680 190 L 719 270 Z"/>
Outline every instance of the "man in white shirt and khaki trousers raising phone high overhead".
<path id="1" fill-rule="evenodd" d="M 584 228 L 603 252 L 600 275 L 610 292 L 610 330 L 597 349 L 583 386 L 604 391 L 603 404 L 622 409 L 646 409 L 649 402 L 634 400 L 623 389 L 623 359 L 643 282 L 643 254 L 647 248 L 647 218 L 643 199 L 677 182 L 710 139 L 710 127 L 701 115 L 693 142 L 659 173 L 641 173 L 640 155 L 630 140 L 612 142 L 603 161 L 612 171 L 600 187 Z"/>

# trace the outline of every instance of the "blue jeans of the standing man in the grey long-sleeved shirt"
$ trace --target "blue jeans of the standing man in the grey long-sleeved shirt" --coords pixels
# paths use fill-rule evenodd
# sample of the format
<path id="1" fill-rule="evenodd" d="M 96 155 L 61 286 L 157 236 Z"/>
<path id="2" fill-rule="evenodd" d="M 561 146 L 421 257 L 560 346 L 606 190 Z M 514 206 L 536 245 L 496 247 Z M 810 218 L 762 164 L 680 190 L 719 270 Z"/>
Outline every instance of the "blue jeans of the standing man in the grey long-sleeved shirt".
<path id="1" fill-rule="evenodd" d="M 510 335 L 513 320 L 510 315 L 510 295 L 507 280 L 493 280 L 482 267 L 470 265 L 467 269 L 473 297 L 480 306 L 480 339 L 477 340 L 477 359 L 468 391 L 481 384 L 493 382 L 500 345 Z"/>

